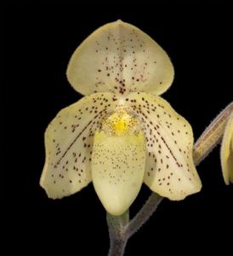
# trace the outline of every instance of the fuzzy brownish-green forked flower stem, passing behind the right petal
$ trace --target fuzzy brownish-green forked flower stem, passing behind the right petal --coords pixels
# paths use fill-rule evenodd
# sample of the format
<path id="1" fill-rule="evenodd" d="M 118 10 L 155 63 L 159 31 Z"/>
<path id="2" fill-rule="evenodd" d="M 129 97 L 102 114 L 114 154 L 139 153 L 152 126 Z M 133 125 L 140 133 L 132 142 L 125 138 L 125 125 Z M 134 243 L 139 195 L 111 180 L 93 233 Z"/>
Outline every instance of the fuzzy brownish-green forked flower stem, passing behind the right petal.
<path id="1" fill-rule="evenodd" d="M 197 166 L 212 149 L 218 145 L 224 134 L 224 127 L 233 112 L 233 103 L 231 102 L 219 115 L 213 119 L 210 125 L 202 133 L 201 137 L 196 141 L 193 149 L 193 160 Z M 151 193 L 145 205 L 129 221 L 128 212 L 121 216 L 112 216 L 107 213 L 107 223 L 109 226 L 111 247 L 109 256 L 122 256 L 130 236 L 139 230 L 145 222 L 156 211 L 158 205 L 162 201 L 162 196 Z"/>

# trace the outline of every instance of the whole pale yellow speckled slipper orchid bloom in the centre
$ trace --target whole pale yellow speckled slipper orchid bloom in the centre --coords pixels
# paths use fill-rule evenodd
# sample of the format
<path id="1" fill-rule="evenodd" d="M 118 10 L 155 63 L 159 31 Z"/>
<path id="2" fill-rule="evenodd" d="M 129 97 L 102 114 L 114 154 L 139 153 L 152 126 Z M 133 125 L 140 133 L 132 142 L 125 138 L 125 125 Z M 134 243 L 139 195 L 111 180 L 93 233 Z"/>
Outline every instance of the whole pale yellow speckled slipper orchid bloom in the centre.
<path id="1" fill-rule="evenodd" d="M 101 26 L 76 49 L 67 77 L 84 97 L 45 132 L 41 185 L 49 197 L 92 181 L 106 211 L 120 215 L 143 182 L 170 200 L 200 191 L 191 127 L 159 96 L 173 65 L 155 41 L 121 20 Z"/>

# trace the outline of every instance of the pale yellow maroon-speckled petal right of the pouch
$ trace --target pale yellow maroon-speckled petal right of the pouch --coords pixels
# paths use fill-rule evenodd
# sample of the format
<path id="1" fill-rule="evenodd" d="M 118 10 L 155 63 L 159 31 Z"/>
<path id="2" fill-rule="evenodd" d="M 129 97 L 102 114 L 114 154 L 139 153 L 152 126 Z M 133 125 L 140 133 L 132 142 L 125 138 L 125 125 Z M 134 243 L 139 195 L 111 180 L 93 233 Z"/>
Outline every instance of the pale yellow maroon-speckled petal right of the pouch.
<path id="1" fill-rule="evenodd" d="M 199 192 L 202 183 L 192 159 L 193 135 L 189 123 L 159 96 L 132 94 L 134 109 L 146 139 L 145 183 L 159 195 L 182 200 Z"/>

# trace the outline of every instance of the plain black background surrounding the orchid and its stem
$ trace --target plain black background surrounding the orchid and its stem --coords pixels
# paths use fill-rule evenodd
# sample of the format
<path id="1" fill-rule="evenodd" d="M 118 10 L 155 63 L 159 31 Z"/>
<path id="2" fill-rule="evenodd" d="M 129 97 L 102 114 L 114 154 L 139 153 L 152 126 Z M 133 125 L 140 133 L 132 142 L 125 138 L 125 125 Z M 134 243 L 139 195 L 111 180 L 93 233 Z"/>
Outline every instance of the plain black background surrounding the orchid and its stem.
<path id="1" fill-rule="evenodd" d="M 32 3 L 33 2 L 33 3 Z M 105 210 L 93 185 L 63 200 L 39 186 L 43 132 L 61 109 L 81 96 L 65 79 L 77 45 L 94 29 L 122 19 L 139 26 L 168 52 L 173 86 L 163 97 L 193 126 L 194 136 L 232 101 L 231 1 L 5 1 L 1 50 L 1 212 L 10 251 L 106 255 Z M 164 200 L 126 248 L 129 255 L 202 255 L 230 252 L 232 185 L 225 186 L 219 147 L 197 168 L 202 192 Z M 149 189 L 143 186 L 132 212 Z M 231 239 L 231 241 L 230 241 Z M 230 245 L 231 244 L 231 245 Z"/>

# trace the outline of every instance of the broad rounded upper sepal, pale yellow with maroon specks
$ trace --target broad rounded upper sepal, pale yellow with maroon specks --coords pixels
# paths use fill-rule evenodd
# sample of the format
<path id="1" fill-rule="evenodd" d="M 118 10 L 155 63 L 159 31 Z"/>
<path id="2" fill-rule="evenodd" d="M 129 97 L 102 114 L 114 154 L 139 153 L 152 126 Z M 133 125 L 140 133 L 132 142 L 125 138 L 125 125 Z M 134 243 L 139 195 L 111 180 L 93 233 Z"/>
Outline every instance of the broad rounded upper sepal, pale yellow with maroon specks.
<path id="1" fill-rule="evenodd" d="M 117 20 L 101 26 L 76 49 L 67 77 L 82 95 L 97 91 L 160 95 L 173 82 L 173 65 L 145 32 Z"/>

